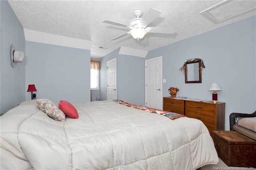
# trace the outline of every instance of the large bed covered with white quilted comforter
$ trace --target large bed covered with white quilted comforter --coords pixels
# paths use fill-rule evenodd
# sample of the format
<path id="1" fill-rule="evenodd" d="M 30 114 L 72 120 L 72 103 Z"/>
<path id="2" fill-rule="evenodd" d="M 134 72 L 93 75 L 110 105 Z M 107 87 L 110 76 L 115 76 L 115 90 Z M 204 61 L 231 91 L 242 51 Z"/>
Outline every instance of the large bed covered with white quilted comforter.
<path id="1" fill-rule="evenodd" d="M 196 170 L 217 164 L 204 126 L 115 101 L 72 103 L 79 118 L 55 121 L 24 101 L 2 117 L 0 169 Z"/>

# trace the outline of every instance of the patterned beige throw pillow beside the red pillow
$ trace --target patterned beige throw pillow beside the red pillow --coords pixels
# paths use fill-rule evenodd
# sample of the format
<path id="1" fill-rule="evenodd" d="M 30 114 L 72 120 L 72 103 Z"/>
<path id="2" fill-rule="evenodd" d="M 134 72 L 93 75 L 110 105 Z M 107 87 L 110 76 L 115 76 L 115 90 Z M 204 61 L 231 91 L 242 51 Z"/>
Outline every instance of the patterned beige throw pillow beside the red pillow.
<path id="1" fill-rule="evenodd" d="M 48 99 L 37 99 L 36 103 L 41 111 L 46 113 L 50 118 L 63 122 L 66 115 L 59 109 L 58 105 Z"/>

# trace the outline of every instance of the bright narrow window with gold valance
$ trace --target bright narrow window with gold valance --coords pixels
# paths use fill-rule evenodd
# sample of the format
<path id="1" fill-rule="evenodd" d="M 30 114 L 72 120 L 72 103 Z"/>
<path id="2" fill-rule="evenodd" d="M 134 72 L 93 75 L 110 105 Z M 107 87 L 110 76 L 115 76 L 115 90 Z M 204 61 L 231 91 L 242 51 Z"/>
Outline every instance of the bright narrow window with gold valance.
<path id="1" fill-rule="evenodd" d="M 91 90 L 100 89 L 100 61 L 91 60 Z"/>

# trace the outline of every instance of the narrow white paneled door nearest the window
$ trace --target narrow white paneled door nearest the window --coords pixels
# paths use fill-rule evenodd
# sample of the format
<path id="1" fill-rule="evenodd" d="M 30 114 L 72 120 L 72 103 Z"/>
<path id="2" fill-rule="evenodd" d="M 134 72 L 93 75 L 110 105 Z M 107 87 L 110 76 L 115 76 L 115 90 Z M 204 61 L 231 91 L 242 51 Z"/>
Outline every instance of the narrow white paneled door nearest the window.
<path id="1" fill-rule="evenodd" d="M 116 100 L 116 58 L 107 62 L 108 100 Z"/>

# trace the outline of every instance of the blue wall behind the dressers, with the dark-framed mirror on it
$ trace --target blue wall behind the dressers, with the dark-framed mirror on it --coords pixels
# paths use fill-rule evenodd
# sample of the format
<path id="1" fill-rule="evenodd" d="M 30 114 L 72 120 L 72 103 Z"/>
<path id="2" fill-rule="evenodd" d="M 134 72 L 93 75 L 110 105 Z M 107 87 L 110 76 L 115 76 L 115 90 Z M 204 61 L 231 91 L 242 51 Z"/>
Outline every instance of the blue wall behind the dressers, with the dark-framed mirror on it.
<path id="1" fill-rule="evenodd" d="M 163 96 L 178 87 L 178 96 L 212 99 L 211 83 L 218 83 L 218 101 L 226 102 L 225 130 L 232 112 L 256 110 L 256 17 L 152 50 L 146 59 L 163 57 Z M 184 83 L 179 71 L 187 59 L 201 58 L 206 66 L 202 83 Z M 165 90 L 164 90 L 165 89 Z"/>

